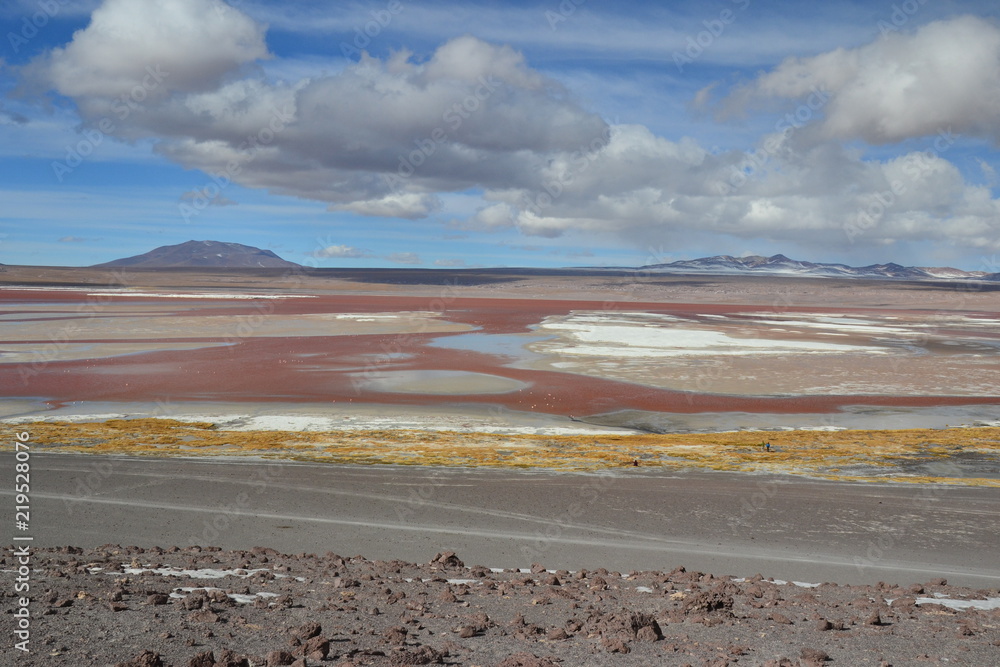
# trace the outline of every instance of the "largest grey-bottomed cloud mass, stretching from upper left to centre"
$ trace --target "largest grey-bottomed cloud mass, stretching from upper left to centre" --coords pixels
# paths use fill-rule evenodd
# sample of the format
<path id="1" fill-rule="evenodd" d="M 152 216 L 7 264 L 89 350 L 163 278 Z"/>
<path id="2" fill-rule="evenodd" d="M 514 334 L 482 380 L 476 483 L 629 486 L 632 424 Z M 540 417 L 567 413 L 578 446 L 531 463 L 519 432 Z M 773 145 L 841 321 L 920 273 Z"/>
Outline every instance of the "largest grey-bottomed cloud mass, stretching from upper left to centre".
<path id="1" fill-rule="evenodd" d="M 216 181 L 422 218 L 436 193 L 530 181 L 606 128 L 508 46 L 458 37 L 294 84 L 248 76 L 262 28 L 221 0 L 107 0 L 66 47 L 26 69 L 92 127 L 159 140 Z M 102 130 L 103 131 L 103 130 Z"/>

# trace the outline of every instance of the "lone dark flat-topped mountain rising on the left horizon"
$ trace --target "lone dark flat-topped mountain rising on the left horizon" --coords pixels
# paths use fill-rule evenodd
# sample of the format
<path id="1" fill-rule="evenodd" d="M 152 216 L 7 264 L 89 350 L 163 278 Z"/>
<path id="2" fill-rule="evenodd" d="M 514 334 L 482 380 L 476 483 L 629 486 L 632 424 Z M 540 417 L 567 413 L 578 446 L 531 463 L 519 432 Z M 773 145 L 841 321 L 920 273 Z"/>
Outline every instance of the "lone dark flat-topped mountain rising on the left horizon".
<path id="1" fill-rule="evenodd" d="M 300 265 L 281 259 L 270 250 L 241 243 L 222 241 L 187 241 L 165 245 L 142 255 L 124 257 L 104 264 L 101 268 L 128 267 L 136 269 L 174 269 L 204 267 L 219 269 L 292 269 Z"/>

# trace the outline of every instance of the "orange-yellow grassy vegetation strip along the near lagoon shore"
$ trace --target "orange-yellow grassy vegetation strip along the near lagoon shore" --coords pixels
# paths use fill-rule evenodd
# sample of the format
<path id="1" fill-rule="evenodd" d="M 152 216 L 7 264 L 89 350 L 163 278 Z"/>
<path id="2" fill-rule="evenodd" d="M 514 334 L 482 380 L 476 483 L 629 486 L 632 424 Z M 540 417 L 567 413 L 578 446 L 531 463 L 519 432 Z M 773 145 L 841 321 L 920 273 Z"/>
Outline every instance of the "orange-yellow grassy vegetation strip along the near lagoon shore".
<path id="1" fill-rule="evenodd" d="M 1000 457 L 1000 428 L 993 427 L 553 436 L 406 429 L 226 431 L 209 422 L 150 418 L 34 422 L 18 429 L 46 450 L 90 454 L 563 470 L 631 467 L 638 461 L 640 467 L 1000 487 L 1000 480 L 963 473 L 957 466 L 925 467 L 922 474 L 907 470 L 907 464 L 946 463 L 962 454 Z M 761 446 L 765 441 L 771 451 Z"/>

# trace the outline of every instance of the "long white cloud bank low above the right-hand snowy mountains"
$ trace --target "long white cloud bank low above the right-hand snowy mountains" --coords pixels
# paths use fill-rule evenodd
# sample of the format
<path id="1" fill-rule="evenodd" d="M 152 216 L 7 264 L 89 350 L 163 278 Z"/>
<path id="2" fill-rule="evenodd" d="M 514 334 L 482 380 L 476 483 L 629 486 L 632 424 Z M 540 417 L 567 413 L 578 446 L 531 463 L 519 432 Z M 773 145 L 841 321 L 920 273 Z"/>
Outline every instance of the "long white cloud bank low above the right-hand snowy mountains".
<path id="1" fill-rule="evenodd" d="M 1000 202 L 945 159 L 954 136 L 885 162 L 798 139 L 792 130 L 750 153 L 711 154 L 616 126 L 601 148 L 553 161 L 540 187 L 487 192 L 496 203 L 466 226 L 613 232 L 647 248 L 696 234 L 828 250 L 926 240 L 1000 247 Z"/>

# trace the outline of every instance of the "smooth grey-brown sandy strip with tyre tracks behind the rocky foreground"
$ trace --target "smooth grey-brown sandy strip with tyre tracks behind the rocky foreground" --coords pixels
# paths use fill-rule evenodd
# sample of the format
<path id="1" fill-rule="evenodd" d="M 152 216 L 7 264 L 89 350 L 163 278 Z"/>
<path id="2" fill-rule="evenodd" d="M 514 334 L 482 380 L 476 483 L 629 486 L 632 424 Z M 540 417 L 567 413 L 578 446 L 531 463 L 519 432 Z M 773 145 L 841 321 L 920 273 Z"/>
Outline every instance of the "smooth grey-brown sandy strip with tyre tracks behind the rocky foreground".
<path id="1" fill-rule="evenodd" d="M 490 567 L 1000 586 L 996 489 L 59 454 L 38 454 L 32 473 L 38 546 L 261 545 L 415 562 L 451 549 Z"/>

